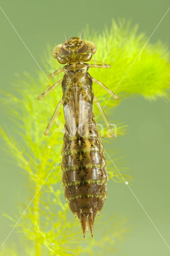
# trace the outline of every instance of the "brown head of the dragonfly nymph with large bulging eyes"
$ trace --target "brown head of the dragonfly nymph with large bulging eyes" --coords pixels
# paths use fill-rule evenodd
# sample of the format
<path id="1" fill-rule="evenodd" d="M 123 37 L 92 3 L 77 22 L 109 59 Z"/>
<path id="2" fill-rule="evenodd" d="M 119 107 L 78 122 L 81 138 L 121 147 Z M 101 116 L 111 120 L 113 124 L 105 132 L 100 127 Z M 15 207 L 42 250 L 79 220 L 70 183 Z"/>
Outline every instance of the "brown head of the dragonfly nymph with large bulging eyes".
<path id="1" fill-rule="evenodd" d="M 64 44 L 58 44 L 53 50 L 53 57 L 61 64 L 73 61 L 88 61 L 96 52 L 96 46 L 90 41 L 72 37 Z"/>

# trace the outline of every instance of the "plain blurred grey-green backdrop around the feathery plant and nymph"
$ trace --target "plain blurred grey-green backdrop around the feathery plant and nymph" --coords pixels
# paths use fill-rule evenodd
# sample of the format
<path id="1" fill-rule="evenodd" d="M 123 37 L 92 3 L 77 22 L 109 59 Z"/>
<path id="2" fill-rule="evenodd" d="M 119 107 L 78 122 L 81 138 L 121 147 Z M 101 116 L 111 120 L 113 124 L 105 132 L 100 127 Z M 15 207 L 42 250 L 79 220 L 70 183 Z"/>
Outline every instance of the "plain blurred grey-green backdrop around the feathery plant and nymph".
<path id="1" fill-rule="evenodd" d="M 132 24 L 139 24 L 139 32 L 150 36 L 165 12 L 168 1 L 1 1 L 1 7 L 10 19 L 22 40 L 41 66 L 41 56 L 47 44 L 59 44 L 67 38 L 79 36 L 81 28 L 88 23 L 89 28 L 102 31 L 111 25 L 111 19 L 126 18 Z M 168 43 L 168 13 L 154 32 L 150 42 L 158 39 Z M 1 87 L 10 91 L 10 85 L 17 72 L 29 72 L 33 76 L 38 70 L 36 62 L 0 11 L 1 34 Z M 88 38 L 86 38 L 88 40 Z M 47 72 L 47 70 L 45 70 Z M 31 85 L 30 85 L 31 86 Z M 37 85 L 38 86 L 38 85 Z M 121 86 L 121 84 L 120 84 Z M 40 92 L 41 92 L 40 88 Z M 128 124 L 128 134 L 115 138 L 112 144 L 104 143 L 105 149 L 119 150 L 127 155 L 126 166 L 132 170 L 134 194 L 162 234 L 170 244 L 170 204 L 169 204 L 169 166 L 170 166 L 170 103 L 163 100 L 149 102 L 142 97 L 128 98 L 110 113 L 108 119 Z M 1 125 L 8 127 L 13 134 L 12 123 L 1 113 Z M 6 147 L 4 142 L 1 145 Z M 18 204 L 25 196 L 26 180 L 23 172 L 10 162 L 10 157 L 1 150 L 0 181 L 0 241 L 3 242 L 11 230 L 12 222 L 2 216 L 14 212 L 18 215 Z M 24 209 L 23 209 L 24 210 Z M 148 216 L 125 184 L 109 182 L 108 196 L 103 214 L 110 211 L 127 218 L 130 232 L 119 243 L 120 256 L 169 255 L 169 249 L 156 231 Z M 108 223 L 109 224 L 109 223 Z M 20 245 L 16 232 L 12 232 L 6 245 Z M 22 244 L 20 245 L 22 247 Z M 22 254 L 21 254 L 22 255 Z"/>

